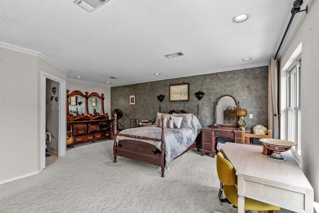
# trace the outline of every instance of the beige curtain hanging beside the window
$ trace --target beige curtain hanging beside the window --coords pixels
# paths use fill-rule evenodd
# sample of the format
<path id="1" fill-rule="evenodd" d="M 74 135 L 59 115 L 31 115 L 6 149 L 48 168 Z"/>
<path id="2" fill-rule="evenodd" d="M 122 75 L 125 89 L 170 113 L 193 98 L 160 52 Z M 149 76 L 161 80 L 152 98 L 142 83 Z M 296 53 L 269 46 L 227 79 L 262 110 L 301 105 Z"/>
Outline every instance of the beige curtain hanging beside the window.
<path id="1" fill-rule="evenodd" d="M 268 67 L 268 129 L 273 138 L 278 139 L 278 61 L 274 58 L 270 59 Z"/>

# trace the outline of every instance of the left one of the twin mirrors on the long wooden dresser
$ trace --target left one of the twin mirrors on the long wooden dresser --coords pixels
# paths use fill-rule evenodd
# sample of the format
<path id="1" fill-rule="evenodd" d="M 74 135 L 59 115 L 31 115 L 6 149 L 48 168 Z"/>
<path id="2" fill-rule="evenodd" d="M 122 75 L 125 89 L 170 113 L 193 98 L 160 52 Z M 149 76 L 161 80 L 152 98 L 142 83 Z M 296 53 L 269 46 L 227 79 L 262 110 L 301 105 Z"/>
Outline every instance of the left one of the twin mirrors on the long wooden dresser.
<path id="1" fill-rule="evenodd" d="M 86 115 L 86 96 L 78 90 L 69 93 L 67 90 L 67 113 L 73 115 Z"/>

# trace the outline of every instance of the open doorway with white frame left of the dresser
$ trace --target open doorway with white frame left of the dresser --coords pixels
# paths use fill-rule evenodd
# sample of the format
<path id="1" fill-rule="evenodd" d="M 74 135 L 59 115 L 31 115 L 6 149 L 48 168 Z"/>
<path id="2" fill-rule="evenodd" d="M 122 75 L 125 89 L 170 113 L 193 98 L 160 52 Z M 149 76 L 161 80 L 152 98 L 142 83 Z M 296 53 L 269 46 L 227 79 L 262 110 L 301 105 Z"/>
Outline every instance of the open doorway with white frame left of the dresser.
<path id="1" fill-rule="evenodd" d="M 66 155 L 66 91 L 65 80 L 41 71 L 41 137 L 40 165 L 45 168 L 47 149 L 58 157 Z M 49 134 L 47 134 L 49 133 Z"/>

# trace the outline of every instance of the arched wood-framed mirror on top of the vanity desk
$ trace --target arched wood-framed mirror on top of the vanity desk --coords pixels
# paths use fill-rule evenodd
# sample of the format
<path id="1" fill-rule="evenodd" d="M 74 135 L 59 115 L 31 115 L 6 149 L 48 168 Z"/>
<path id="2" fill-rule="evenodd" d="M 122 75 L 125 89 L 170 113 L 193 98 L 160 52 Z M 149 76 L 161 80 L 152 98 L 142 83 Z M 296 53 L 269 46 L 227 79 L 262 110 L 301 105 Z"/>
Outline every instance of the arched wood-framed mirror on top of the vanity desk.
<path id="1" fill-rule="evenodd" d="M 237 109 L 239 107 L 239 101 L 237 102 L 231 95 L 223 95 L 218 98 L 214 105 L 214 124 L 217 124 L 220 127 L 237 127 Z"/>

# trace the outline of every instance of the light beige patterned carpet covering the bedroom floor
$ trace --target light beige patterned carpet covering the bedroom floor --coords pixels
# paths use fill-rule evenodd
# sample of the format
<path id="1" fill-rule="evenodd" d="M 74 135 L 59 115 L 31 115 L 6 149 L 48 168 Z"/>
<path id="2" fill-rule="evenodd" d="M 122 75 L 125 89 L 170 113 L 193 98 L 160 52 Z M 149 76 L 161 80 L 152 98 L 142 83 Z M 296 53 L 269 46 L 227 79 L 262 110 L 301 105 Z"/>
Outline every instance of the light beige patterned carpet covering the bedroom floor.
<path id="1" fill-rule="evenodd" d="M 165 178 L 154 165 L 113 163 L 113 141 L 67 154 L 38 175 L 0 185 L 0 213 L 237 212 L 217 198 L 216 159 L 196 149 L 175 159 Z"/>

